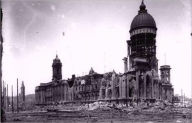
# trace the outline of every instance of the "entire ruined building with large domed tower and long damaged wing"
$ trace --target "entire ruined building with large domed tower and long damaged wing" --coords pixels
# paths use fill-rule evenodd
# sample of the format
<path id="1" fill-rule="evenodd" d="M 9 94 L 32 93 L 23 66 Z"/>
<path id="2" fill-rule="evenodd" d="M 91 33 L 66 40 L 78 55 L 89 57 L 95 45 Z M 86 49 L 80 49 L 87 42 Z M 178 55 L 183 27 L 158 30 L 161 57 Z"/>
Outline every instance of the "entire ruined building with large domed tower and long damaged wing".
<path id="1" fill-rule="evenodd" d="M 133 101 L 156 100 L 172 102 L 171 68 L 169 65 L 161 66 L 159 76 L 156 57 L 157 27 L 143 1 L 129 32 L 128 55 L 123 58 L 123 74 L 117 74 L 115 71 L 98 74 L 91 68 L 88 75 L 73 75 L 71 79 L 62 80 L 62 63 L 56 55 L 52 64 L 52 81 L 41 83 L 35 89 L 36 104 L 95 101 L 127 104 Z"/>

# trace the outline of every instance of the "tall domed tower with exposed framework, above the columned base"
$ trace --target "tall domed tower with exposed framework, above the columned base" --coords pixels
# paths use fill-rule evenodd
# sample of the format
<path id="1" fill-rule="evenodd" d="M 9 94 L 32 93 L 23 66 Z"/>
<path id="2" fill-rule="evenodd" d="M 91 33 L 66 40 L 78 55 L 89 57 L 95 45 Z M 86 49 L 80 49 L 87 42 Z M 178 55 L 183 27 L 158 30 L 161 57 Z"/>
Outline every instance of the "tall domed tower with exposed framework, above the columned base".
<path id="1" fill-rule="evenodd" d="M 156 23 L 142 1 L 140 10 L 130 27 L 128 43 L 128 69 L 158 71 L 156 58 Z"/>

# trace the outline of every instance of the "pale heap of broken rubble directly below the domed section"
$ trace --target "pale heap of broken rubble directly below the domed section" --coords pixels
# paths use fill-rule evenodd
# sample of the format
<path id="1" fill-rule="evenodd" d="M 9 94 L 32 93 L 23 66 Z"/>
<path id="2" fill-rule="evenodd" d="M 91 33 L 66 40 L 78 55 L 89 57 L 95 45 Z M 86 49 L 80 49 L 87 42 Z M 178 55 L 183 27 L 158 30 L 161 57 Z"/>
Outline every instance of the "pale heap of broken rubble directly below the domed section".
<path id="1" fill-rule="evenodd" d="M 165 111 L 171 111 L 173 105 L 167 101 L 163 102 L 156 102 L 156 103 L 146 103 L 146 102 L 140 102 L 140 103 L 131 103 L 130 104 L 113 104 L 108 102 L 94 102 L 90 104 L 85 104 L 82 106 L 79 106 L 78 110 L 121 110 L 128 113 L 132 112 L 150 112 L 150 113 L 159 113 L 159 112 L 165 112 Z"/>

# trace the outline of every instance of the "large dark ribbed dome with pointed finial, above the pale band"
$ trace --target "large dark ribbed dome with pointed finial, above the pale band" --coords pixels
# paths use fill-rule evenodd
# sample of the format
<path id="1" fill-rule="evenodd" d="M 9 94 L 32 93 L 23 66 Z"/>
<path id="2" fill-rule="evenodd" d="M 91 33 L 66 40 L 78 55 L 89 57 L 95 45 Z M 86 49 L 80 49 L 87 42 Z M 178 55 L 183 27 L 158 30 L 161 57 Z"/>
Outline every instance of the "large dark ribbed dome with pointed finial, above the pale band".
<path id="1" fill-rule="evenodd" d="M 148 14 L 146 10 L 146 6 L 142 1 L 138 15 L 135 16 L 135 18 L 131 23 L 130 31 L 134 29 L 143 28 L 143 27 L 156 29 L 155 20 L 150 14 Z"/>

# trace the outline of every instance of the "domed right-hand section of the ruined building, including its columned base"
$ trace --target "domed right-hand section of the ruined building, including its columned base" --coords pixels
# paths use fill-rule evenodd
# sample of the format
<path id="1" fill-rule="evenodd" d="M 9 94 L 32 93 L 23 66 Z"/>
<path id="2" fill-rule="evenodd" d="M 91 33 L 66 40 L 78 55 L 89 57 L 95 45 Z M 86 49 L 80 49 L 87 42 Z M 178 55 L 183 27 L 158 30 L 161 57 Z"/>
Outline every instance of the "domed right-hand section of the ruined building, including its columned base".
<path id="1" fill-rule="evenodd" d="M 130 40 L 127 41 L 127 57 L 123 58 L 124 73 L 116 75 L 110 88 L 102 90 L 101 100 L 120 103 L 132 101 L 167 100 L 172 102 L 173 88 L 170 83 L 170 66 L 160 67 L 156 57 L 157 26 L 154 18 L 148 13 L 142 1 L 138 14 L 130 26 Z M 118 83 L 118 84 L 117 84 Z M 104 88 L 104 87 L 102 87 Z M 112 91 L 112 96 L 107 95 Z M 105 92 L 105 93 L 104 93 Z"/>

